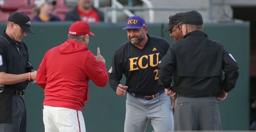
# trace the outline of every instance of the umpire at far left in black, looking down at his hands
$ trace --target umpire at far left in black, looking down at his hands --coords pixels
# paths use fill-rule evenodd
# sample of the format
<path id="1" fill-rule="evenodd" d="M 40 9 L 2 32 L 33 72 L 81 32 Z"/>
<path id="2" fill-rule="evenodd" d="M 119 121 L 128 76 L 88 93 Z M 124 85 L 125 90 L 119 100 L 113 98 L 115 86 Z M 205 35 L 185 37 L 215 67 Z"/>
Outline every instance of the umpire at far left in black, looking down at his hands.
<path id="1" fill-rule="evenodd" d="M 0 36 L 0 132 L 26 132 L 24 91 L 36 80 L 22 39 L 33 33 L 31 21 L 23 12 L 13 12 Z"/>

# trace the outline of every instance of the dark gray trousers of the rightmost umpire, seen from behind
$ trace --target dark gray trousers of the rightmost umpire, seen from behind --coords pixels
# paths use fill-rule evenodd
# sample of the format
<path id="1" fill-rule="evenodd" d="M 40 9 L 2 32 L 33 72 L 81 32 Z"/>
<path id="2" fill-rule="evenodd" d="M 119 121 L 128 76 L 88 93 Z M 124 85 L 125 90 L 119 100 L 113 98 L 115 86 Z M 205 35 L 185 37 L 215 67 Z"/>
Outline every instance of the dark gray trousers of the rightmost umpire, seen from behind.
<path id="1" fill-rule="evenodd" d="M 178 97 L 174 108 L 174 130 L 221 130 L 216 97 Z"/>

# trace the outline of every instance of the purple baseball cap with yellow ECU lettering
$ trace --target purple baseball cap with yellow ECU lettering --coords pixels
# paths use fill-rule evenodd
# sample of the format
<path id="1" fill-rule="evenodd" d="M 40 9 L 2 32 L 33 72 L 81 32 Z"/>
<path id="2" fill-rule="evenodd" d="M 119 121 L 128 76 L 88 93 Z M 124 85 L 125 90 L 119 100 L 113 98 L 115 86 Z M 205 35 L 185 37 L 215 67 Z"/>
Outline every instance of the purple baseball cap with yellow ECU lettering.
<path id="1" fill-rule="evenodd" d="M 146 26 L 145 20 L 141 16 L 130 16 L 126 21 L 126 27 L 123 29 L 138 29 Z"/>

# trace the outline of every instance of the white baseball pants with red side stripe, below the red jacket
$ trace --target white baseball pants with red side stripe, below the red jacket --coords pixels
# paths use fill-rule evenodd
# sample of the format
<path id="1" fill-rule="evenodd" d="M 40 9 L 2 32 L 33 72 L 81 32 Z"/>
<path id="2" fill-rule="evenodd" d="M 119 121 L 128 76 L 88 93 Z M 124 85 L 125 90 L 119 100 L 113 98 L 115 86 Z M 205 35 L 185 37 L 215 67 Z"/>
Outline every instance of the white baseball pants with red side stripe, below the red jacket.
<path id="1" fill-rule="evenodd" d="M 82 111 L 43 106 L 45 132 L 86 132 Z"/>

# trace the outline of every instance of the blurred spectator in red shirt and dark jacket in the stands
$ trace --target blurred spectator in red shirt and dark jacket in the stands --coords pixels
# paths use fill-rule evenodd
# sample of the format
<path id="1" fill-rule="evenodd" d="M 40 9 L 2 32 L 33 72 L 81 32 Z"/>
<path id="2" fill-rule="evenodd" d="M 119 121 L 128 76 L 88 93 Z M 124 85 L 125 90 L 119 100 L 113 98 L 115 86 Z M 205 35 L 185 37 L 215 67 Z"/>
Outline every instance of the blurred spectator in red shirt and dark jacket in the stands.
<path id="1" fill-rule="evenodd" d="M 65 21 L 85 21 L 97 23 L 104 21 L 104 14 L 92 5 L 92 0 L 77 0 L 77 6 L 66 13 Z"/>

